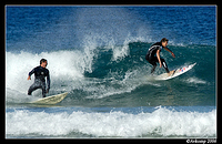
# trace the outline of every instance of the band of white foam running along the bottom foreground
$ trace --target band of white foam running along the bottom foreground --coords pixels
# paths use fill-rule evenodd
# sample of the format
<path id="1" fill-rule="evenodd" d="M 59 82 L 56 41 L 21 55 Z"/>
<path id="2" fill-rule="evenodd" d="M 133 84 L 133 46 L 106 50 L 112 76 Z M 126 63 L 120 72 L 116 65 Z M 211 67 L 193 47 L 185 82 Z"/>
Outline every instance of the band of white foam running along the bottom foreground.
<path id="1" fill-rule="evenodd" d="M 152 113 L 46 113 L 18 110 L 6 114 L 6 134 L 67 135 L 82 133 L 98 136 L 135 137 L 145 135 L 196 136 L 216 135 L 216 111 L 176 112 L 159 107 Z"/>

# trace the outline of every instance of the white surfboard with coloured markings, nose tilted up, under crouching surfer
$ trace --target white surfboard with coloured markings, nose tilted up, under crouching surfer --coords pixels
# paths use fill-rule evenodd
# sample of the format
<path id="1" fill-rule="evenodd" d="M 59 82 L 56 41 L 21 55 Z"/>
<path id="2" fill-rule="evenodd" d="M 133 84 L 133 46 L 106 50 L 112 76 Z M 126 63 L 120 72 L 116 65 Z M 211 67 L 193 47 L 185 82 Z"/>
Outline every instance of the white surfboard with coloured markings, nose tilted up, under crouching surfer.
<path id="1" fill-rule="evenodd" d="M 155 76 L 154 79 L 155 80 L 170 80 L 170 79 L 173 79 L 175 76 L 179 76 L 185 72 L 188 72 L 189 70 L 191 70 L 196 63 L 193 63 L 191 65 L 188 65 L 188 66 L 182 66 L 182 68 L 179 68 L 176 70 L 173 70 L 174 72 L 171 74 L 171 75 L 168 75 L 168 73 L 163 73 L 163 74 L 160 74 L 158 76 Z"/>

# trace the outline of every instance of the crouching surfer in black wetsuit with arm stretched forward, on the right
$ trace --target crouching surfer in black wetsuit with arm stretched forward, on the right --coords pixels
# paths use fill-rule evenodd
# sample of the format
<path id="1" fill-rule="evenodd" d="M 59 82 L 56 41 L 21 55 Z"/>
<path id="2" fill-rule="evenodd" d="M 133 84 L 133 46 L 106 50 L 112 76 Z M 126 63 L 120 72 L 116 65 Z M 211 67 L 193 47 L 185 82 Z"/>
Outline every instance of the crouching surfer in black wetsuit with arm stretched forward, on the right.
<path id="1" fill-rule="evenodd" d="M 169 51 L 172 54 L 172 56 L 175 58 L 174 53 L 169 48 L 167 48 L 168 41 L 169 40 L 167 38 L 163 38 L 160 42 L 152 44 L 150 47 L 150 49 L 148 50 L 148 53 L 145 55 L 145 60 L 153 65 L 153 68 L 151 70 L 151 74 L 154 72 L 154 70 L 157 68 L 157 62 L 160 63 L 160 68 L 163 65 L 167 73 L 171 74 L 171 72 L 173 72 L 173 71 L 170 72 L 168 70 L 168 65 L 165 63 L 165 60 L 160 58 L 160 52 L 161 52 L 162 48 L 165 49 L 167 51 Z M 155 56 L 155 54 L 157 54 L 157 56 Z"/>

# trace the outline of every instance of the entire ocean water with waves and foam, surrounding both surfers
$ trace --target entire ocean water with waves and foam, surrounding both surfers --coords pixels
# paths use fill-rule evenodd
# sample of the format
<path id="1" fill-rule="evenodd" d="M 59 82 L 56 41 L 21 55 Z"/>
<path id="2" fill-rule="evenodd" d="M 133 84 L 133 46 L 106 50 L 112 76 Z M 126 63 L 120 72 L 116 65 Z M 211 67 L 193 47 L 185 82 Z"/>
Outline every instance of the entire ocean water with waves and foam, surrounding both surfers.
<path id="1" fill-rule="evenodd" d="M 169 81 L 154 81 L 145 53 L 168 38 Z M 28 73 L 48 60 L 49 95 L 33 105 Z M 155 75 L 164 72 L 155 69 Z M 216 7 L 6 7 L 6 137 L 216 137 Z"/>

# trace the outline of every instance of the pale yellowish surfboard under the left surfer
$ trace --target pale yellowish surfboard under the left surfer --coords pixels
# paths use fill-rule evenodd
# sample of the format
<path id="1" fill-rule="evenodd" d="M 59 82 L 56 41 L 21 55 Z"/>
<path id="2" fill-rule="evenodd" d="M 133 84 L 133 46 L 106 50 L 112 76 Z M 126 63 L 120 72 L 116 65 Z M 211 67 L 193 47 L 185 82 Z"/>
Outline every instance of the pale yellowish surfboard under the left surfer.
<path id="1" fill-rule="evenodd" d="M 67 94 L 68 94 L 68 92 L 48 96 L 48 97 L 43 97 L 43 99 L 39 99 L 39 100 L 30 102 L 30 103 L 31 104 L 57 104 L 57 103 L 61 102 L 67 96 Z"/>

